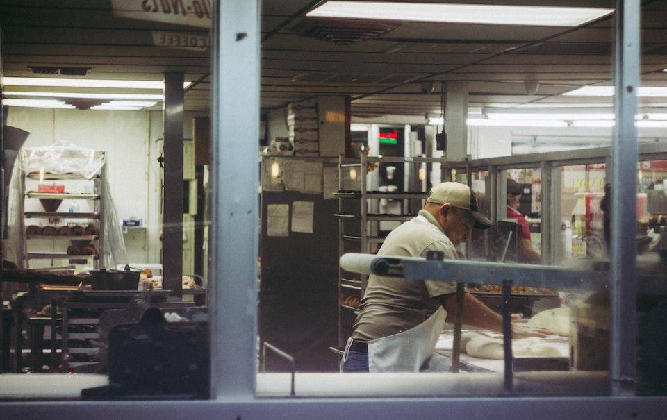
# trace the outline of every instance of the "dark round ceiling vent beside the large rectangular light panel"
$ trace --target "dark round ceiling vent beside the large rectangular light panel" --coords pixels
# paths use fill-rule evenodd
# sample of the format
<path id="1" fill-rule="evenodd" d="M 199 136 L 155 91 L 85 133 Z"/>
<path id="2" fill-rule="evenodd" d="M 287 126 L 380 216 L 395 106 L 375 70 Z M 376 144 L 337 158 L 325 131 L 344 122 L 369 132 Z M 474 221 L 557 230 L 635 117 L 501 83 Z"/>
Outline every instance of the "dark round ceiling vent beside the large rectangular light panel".
<path id="1" fill-rule="evenodd" d="M 306 17 L 292 28 L 292 32 L 336 45 L 349 45 L 379 37 L 399 26 L 400 22 Z"/>

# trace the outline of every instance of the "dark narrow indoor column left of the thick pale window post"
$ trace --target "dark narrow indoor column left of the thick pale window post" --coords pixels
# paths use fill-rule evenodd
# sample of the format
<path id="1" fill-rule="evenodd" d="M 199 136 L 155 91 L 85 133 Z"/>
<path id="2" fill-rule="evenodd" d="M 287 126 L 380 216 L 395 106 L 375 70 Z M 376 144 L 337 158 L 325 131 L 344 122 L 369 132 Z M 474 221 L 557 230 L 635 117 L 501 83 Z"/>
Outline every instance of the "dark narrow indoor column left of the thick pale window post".
<path id="1" fill-rule="evenodd" d="M 163 288 L 183 294 L 183 72 L 165 72 Z"/>

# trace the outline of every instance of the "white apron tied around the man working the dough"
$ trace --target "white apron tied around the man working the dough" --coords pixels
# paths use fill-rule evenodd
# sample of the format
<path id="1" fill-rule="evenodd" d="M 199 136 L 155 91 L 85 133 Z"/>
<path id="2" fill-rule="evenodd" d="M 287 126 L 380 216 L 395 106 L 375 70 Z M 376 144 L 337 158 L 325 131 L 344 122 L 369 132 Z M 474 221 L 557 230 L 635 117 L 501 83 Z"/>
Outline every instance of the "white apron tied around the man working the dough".
<path id="1" fill-rule="evenodd" d="M 446 315 L 440 307 L 418 326 L 368 342 L 368 371 L 418 372 L 436 348 Z"/>

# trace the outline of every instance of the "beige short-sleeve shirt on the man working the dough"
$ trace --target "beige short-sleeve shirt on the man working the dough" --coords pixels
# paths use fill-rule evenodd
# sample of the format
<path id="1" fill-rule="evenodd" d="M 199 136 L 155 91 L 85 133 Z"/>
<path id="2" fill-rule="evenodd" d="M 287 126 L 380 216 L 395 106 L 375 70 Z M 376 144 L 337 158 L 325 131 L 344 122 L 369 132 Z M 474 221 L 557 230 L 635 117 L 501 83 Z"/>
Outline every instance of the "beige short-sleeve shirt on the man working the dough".
<path id="1" fill-rule="evenodd" d="M 445 258 L 457 259 L 450 238 L 431 213 L 419 215 L 395 228 L 377 255 L 425 257 L 427 251 L 442 251 Z M 369 341 L 409 330 L 426 321 L 438 308 L 436 296 L 456 292 L 456 283 L 406 280 L 372 274 L 361 300 L 352 338 Z"/>

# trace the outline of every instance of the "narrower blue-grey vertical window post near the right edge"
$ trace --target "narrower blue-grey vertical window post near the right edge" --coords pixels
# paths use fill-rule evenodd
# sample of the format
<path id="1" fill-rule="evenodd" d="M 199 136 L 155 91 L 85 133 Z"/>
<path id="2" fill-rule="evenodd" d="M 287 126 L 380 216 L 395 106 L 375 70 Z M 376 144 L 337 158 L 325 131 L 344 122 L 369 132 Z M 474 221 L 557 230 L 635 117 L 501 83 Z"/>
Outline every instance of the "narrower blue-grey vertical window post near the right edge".
<path id="1" fill-rule="evenodd" d="M 616 0 L 614 110 L 611 183 L 611 361 L 614 396 L 633 396 L 636 377 L 637 276 L 636 183 L 639 87 L 639 0 Z"/>

